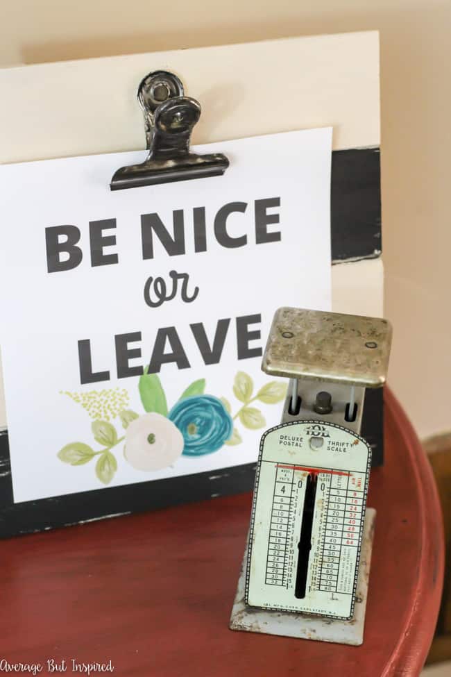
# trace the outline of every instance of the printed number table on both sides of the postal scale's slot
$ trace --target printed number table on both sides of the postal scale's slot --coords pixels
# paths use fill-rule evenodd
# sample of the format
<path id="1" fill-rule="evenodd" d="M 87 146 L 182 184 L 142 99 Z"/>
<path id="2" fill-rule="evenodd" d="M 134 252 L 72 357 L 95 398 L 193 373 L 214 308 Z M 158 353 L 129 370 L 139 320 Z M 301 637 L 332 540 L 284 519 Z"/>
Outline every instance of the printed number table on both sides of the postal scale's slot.
<path id="1" fill-rule="evenodd" d="M 309 586 L 352 594 L 364 510 L 365 474 L 360 472 L 276 466 L 265 583 L 288 587 L 293 581 L 293 546 L 297 549 L 300 541 L 295 512 L 305 498 L 301 492 L 308 476 L 322 497 L 321 503 L 315 501 Z"/>

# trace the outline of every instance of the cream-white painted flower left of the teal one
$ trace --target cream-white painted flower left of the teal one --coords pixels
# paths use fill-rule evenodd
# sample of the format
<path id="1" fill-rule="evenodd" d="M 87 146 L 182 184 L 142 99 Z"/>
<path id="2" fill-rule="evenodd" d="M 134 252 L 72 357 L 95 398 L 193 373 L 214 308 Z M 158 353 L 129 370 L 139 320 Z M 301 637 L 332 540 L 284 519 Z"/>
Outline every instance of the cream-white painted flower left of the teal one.
<path id="1" fill-rule="evenodd" d="M 165 416 L 151 412 L 130 423 L 126 431 L 126 460 L 137 470 L 160 470 L 182 455 L 183 435 Z"/>

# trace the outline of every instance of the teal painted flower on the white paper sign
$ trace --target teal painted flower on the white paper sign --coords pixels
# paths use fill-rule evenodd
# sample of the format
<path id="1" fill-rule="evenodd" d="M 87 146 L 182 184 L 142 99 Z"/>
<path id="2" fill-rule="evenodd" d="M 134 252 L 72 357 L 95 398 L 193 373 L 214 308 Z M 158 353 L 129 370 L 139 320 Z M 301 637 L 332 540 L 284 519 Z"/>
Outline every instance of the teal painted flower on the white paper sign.
<path id="1" fill-rule="evenodd" d="M 233 423 L 221 400 L 212 395 L 185 397 L 176 403 L 168 418 L 185 440 L 185 456 L 218 451 L 233 432 Z"/>

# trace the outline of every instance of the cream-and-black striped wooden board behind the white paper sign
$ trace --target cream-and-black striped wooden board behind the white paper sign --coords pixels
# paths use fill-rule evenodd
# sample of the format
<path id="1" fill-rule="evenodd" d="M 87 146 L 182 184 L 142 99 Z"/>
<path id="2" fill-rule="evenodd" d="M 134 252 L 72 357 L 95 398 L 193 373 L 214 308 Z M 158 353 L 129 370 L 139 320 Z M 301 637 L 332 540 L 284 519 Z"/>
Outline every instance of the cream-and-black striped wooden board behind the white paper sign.
<path id="1" fill-rule="evenodd" d="M 333 310 L 382 315 L 379 41 L 375 31 L 294 37 L 0 70 L 0 162 L 144 149 L 140 79 L 156 69 L 178 74 L 203 114 L 193 142 L 207 143 L 333 126 Z M 271 158 L 269 158 L 269 171 Z M 382 461 L 382 396 L 366 401 L 363 434 Z M 0 377 L 0 535 L 97 519 L 167 504 L 167 482 L 14 504 L 7 418 Z M 210 497 L 178 478 L 180 501 Z M 177 481 L 171 480 L 171 481 Z M 253 465 L 224 473 L 219 492 L 250 489 Z M 154 483 L 155 484 L 155 483 Z M 184 486 L 185 485 L 185 486 Z M 142 489 L 141 489 L 142 487 Z M 216 491 L 218 485 L 216 484 Z M 154 487 L 155 488 L 155 487 Z M 186 495 L 185 495 L 186 494 Z M 120 508 L 118 508 L 120 505 Z"/>

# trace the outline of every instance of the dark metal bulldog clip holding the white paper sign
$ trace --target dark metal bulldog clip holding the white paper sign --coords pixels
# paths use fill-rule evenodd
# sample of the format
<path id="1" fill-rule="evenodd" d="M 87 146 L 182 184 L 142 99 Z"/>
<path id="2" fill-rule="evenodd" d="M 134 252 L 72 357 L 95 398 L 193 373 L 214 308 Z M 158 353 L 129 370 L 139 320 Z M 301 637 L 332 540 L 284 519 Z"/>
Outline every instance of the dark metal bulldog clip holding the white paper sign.
<path id="1" fill-rule="evenodd" d="M 139 84 L 138 101 L 144 112 L 148 157 L 139 165 L 118 169 L 111 190 L 219 176 L 226 171 L 229 161 L 222 153 L 198 155 L 189 150 L 201 104 L 185 97 L 176 75 L 149 73 Z"/>

